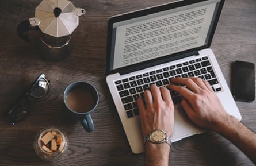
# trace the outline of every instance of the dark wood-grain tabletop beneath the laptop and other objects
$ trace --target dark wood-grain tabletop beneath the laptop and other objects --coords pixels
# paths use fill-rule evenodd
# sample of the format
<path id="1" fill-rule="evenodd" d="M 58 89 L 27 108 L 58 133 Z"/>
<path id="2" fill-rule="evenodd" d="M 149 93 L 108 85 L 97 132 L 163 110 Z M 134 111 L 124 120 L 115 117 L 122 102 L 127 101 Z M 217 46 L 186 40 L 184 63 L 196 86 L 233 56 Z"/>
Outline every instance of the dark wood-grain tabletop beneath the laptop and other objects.
<path id="1" fill-rule="evenodd" d="M 167 0 L 72 1 L 87 10 L 73 34 L 70 57 L 60 62 L 44 60 L 37 52 L 38 32 L 29 32 L 30 43 L 18 38 L 16 26 L 35 16 L 40 0 L 0 1 L 0 165 L 143 165 L 144 154 L 129 148 L 119 116 L 105 83 L 106 26 L 110 16 L 170 2 Z M 256 64 L 256 1 L 227 0 L 211 48 L 231 86 L 231 63 Z M 43 99 L 30 99 L 31 112 L 24 121 L 10 126 L 4 117 L 13 102 L 36 77 L 44 73 L 51 90 Z M 71 123 L 63 114 L 63 91 L 77 80 L 92 83 L 100 103 L 91 115 L 95 129 L 86 133 L 81 123 Z M 214 104 L 214 103 L 213 103 Z M 256 101 L 236 102 L 242 122 L 256 132 Z M 33 150 L 33 139 L 44 128 L 66 132 L 70 148 L 63 160 L 42 161 Z M 253 165 L 231 142 L 215 132 L 175 142 L 170 165 Z"/>

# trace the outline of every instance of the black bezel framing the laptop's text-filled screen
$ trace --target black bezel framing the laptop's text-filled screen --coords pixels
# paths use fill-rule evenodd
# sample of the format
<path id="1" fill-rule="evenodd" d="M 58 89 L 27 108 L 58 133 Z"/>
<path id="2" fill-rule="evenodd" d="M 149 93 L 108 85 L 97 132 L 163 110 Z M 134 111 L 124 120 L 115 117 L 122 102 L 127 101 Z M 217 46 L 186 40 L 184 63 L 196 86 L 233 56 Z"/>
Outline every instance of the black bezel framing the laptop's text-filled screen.
<path id="1" fill-rule="evenodd" d="M 208 1 L 208 0 L 178 1 L 178 2 L 166 3 L 164 5 L 154 6 L 154 7 L 150 7 L 147 9 L 138 10 L 138 11 L 132 11 L 131 13 L 125 13 L 125 14 L 121 14 L 121 15 L 113 16 L 113 17 L 109 18 L 108 34 L 107 34 L 107 40 L 106 40 L 105 75 L 113 74 L 116 72 L 119 72 L 120 75 L 126 74 L 128 72 L 151 67 L 152 65 L 161 64 L 166 61 L 177 60 L 177 59 L 181 59 L 182 57 L 187 57 L 187 56 L 191 56 L 191 55 L 198 55 L 198 51 L 200 51 L 201 49 L 209 48 L 209 46 L 212 43 L 213 34 L 215 33 L 215 30 L 216 30 L 217 22 L 219 21 L 221 10 L 223 9 L 224 0 L 220 0 L 220 2 L 219 2 L 219 6 L 216 11 L 216 17 L 212 24 L 212 30 L 209 33 L 208 42 L 205 45 L 202 45 L 200 47 L 193 48 L 193 49 L 188 49 L 186 51 L 173 53 L 173 54 L 170 54 L 167 56 L 159 57 L 157 59 L 148 60 L 146 62 L 144 61 L 139 64 L 132 64 L 132 65 L 128 65 L 126 67 L 121 67 L 121 68 L 117 68 L 117 69 L 110 68 L 111 67 L 110 62 L 111 62 L 111 58 L 112 58 L 111 57 L 112 30 L 113 30 L 113 24 L 115 22 L 120 22 L 120 21 L 129 20 L 129 19 L 136 18 L 136 17 L 146 16 L 148 14 L 158 13 L 160 11 L 170 10 L 170 9 L 174 9 L 177 7 L 192 5 L 194 3 L 199 3 L 199 2 L 204 2 L 204 1 Z"/>

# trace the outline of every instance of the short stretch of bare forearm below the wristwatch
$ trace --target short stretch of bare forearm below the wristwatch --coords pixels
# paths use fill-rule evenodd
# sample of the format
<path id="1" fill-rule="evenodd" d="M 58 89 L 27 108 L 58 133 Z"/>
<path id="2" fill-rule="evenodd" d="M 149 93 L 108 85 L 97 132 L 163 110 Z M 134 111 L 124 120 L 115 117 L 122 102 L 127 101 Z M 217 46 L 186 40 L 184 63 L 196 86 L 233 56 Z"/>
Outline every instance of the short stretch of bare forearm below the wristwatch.
<path id="1" fill-rule="evenodd" d="M 169 165 L 170 145 L 166 143 L 154 144 L 147 142 L 145 145 L 145 166 Z"/>

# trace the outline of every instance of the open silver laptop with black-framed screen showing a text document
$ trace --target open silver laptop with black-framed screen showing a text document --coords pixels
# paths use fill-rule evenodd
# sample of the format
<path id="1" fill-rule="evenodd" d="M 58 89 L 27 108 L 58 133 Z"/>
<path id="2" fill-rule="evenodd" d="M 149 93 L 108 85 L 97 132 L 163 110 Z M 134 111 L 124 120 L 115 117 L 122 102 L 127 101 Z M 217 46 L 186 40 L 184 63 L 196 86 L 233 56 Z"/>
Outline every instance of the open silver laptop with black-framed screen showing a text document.
<path id="1" fill-rule="evenodd" d="M 177 1 L 109 18 L 106 82 L 133 153 L 144 151 L 137 98 L 155 83 L 175 77 L 207 80 L 227 113 L 241 120 L 213 51 L 209 48 L 224 0 Z M 171 142 L 205 132 L 175 103 Z M 214 104 L 214 103 L 213 103 Z"/>

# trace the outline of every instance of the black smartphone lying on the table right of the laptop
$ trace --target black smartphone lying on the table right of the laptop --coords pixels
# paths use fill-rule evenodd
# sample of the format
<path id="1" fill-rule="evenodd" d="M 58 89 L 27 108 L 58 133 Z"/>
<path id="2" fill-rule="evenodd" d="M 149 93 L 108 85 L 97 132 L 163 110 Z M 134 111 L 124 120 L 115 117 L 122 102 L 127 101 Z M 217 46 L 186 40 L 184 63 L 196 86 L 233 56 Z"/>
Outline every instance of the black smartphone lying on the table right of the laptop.
<path id="1" fill-rule="evenodd" d="M 239 101 L 254 101 L 254 64 L 246 61 L 235 61 L 233 64 L 233 73 L 234 98 Z"/>

